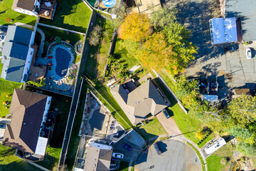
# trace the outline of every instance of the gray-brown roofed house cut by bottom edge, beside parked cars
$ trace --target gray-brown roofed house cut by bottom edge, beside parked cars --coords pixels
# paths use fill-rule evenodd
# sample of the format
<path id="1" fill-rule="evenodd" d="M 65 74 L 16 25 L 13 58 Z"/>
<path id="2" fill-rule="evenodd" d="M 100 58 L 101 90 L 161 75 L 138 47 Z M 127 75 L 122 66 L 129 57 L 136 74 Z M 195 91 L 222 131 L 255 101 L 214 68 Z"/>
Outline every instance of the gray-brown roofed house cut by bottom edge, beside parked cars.
<path id="1" fill-rule="evenodd" d="M 84 169 L 94 171 L 109 171 L 112 152 L 112 147 L 109 145 L 91 142 L 87 148 Z"/>

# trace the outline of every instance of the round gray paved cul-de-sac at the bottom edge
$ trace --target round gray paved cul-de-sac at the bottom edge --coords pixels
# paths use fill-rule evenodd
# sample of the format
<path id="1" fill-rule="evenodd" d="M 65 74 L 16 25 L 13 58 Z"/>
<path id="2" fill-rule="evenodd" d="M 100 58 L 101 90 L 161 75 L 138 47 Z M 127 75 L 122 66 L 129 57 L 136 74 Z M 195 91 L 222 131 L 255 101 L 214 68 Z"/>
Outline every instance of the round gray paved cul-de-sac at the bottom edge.
<path id="1" fill-rule="evenodd" d="M 161 155 L 157 155 L 154 147 L 142 152 L 134 165 L 134 170 L 150 171 L 200 171 L 201 161 L 193 149 L 177 140 L 157 142 Z"/>

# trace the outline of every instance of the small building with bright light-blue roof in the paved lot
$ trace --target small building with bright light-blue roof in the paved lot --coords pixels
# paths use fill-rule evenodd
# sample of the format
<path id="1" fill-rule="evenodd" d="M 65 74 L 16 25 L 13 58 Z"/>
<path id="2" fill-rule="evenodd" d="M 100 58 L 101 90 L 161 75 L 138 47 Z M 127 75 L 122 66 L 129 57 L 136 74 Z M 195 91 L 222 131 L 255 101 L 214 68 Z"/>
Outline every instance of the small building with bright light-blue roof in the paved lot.
<path id="1" fill-rule="evenodd" d="M 238 41 L 236 21 L 235 17 L 210 19 L 211 43 L 221 44 Z"/>

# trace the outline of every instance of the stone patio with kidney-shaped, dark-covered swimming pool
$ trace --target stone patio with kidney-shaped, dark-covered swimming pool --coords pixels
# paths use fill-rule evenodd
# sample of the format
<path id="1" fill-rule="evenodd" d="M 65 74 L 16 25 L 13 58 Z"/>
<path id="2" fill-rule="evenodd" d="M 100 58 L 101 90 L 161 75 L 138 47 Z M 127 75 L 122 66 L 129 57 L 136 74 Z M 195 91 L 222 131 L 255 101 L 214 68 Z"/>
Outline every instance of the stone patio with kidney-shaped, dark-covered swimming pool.
<path id="1" fill-rule="evenodd" d="M 74 48 L 70 43 L 50 43 L 46 57 L 36 58 L 36 66 L 47 66 L 45 83 L 47 90 L 73 94 L 78 65 L 74 61 Z"/>

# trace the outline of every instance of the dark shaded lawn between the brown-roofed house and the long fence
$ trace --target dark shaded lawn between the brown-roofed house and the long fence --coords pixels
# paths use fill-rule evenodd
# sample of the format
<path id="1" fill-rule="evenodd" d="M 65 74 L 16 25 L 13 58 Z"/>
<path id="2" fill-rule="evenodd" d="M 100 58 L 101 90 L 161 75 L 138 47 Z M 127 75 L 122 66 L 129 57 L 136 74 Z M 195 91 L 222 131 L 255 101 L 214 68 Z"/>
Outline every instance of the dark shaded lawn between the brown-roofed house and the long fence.
<path id="1" fill-rule="evenodd" d="M 26 90 L 31 90 L 35 92 L 36 88 L 27 86 Z M 72 98 L 65 95 L 51 93 L 49 91 L 43 91 L 43 94 L 53 97 L 50 105 L 50 110 L 58 109 L 58 114 L 56 116 L 53 133 L 51 134 L 49 140 L 49 145 L 46 149 L 46 157 L 43 161 L 36 163 L 38 165 L 46 167 L 48 170 L 53 170 L 53 167 L 55 167 L 55 165 L 58 165 L 58 161 L 60 159 L 60 151 L 65 135 L 65 125 L 68 121 L 68 113 L 70 110 L 70 103 Z"/>

